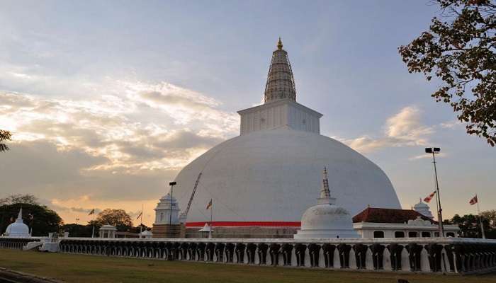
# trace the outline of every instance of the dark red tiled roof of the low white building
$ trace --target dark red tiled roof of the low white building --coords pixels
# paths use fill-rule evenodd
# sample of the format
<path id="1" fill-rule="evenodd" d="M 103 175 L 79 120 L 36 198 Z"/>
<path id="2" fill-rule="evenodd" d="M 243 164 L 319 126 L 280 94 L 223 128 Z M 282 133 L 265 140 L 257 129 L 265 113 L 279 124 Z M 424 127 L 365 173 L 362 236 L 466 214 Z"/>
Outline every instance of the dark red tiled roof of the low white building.
<path id="1" fill-rule="evenodd" d="M 390 209 L 390 208 L 375 208 L 367 207 L 362 212 L 353 217 L 353 222 L 372 222 L 372 223 L 398 223 L 402 224 L 408 220 L 415 220 L 417 217 L 431 221 L 432 224 L 437 224 L 436 221 L 427 216 L 419 214 L 413 209 Z"/>

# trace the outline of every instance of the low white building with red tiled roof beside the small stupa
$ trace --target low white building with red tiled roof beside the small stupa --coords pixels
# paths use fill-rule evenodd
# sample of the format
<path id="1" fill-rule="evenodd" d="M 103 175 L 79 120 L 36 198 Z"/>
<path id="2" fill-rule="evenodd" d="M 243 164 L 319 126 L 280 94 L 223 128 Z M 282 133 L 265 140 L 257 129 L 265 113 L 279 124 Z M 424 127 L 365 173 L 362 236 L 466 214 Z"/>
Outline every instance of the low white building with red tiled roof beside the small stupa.
<path id="1" fill-rule="evenodd" d="M 413 209 L 367 207 L 353 217 L 353 228 L 361 238 L 439 237 L 438 224 Z M 448 237 L 457 237 L 456 225 L 444 225 Z"/>

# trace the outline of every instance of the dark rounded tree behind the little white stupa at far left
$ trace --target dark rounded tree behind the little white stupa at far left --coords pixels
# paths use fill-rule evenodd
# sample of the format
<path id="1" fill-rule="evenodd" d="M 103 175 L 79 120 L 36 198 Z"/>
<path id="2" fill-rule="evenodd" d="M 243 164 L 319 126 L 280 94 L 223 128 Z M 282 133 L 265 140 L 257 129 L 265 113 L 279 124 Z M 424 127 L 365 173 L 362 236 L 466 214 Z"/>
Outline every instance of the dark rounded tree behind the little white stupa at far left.
<path id="1" fill-rule="evenodd" d="M 57 212 L 44 205 L 15 203 L 0 206 L 0 233 L 4 233 L 7 226 L 17 219 L 21 207 L 24 224 L 32 229 L 32 236 L 48 236 L 48 233 L 59 231 L 62 219 Z"/>

